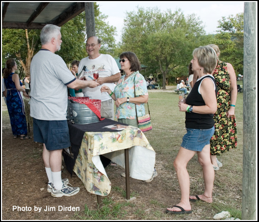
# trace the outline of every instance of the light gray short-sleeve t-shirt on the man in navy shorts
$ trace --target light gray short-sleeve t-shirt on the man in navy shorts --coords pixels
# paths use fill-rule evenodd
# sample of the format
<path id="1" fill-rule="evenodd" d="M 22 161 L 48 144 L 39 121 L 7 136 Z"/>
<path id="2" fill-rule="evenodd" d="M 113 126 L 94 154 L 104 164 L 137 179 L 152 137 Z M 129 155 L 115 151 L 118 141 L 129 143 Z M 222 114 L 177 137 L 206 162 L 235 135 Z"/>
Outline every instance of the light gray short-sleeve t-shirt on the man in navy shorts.
<path id="1" fill-rule="evenodd" d="M 30 64 L 30 116 L 38 120 L 67 120 L 67 85 L 75 80 L 60 56 L 40 50 Z"/>

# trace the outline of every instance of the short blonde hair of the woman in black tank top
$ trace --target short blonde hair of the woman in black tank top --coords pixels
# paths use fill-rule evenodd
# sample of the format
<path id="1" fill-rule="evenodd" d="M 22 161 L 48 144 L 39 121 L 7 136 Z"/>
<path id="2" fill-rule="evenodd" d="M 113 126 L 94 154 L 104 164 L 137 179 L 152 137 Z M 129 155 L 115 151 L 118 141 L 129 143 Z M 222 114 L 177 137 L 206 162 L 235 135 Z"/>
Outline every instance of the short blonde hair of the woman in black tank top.
<path id="1" fill-rule="evenodd" d="M 217 65 L 217 54 L 212 47 L 208 45 L 200 46 L 199 48 L 193 50 L 192 56 L 197 58 L 199 66 L 204 69 L 204 74 L 212 74 L 214 72 Z"/>

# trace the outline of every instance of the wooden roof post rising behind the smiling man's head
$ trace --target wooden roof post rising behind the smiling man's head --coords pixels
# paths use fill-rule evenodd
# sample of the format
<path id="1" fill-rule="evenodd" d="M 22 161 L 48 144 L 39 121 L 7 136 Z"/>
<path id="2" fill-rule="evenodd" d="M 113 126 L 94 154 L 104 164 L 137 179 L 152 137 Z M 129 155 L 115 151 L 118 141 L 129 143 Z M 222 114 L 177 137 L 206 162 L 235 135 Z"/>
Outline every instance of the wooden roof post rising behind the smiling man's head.
<path id="1" fill-rule="evenodd" d="M 94 6 L 93 2 L 86 2 L 85 6 L 85 22 L 87 38 L 95 36 L 95 22 L 94 22 Z"/>

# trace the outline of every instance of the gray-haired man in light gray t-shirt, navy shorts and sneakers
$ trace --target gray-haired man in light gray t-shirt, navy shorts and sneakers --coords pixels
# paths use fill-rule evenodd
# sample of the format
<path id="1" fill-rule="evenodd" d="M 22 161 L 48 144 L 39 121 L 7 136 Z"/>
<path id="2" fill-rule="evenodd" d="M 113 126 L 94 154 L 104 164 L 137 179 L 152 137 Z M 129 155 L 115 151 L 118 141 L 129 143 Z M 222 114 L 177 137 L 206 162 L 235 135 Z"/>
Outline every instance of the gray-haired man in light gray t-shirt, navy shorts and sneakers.
<path id="1" fill-rule="evenodd" d="M 61 57 L 60 27 L 47 24 L 41 31 L 41 50 L 30 65 L 30 116 L 34 120 L 34 141 L 43 143 L 43 161 L 48 176 L 47 191 L 53 197 L 73 196 L 79 187 L 61 179 L 62 149 L 70 147 L 67 123 L 68 95 L 71 89 L 94 88 L 96 81 L 76 79 Z"/>

